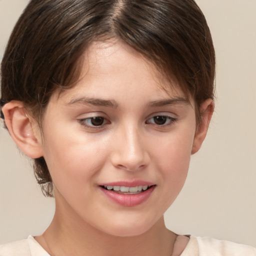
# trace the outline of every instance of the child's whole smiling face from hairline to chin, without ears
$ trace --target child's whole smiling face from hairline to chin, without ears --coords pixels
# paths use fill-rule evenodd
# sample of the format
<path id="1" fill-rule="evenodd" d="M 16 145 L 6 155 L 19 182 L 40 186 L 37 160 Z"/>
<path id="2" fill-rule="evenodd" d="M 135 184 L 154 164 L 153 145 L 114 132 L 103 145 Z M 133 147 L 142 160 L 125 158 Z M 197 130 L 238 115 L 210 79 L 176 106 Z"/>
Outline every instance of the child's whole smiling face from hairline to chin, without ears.
<path id="1" fill-rule="evenodd" d="M 193 103 L 138 52 L 94 42 L 80 80 L 44 113 L 56 213 L 113 235 L 147 231 L 183 186 L 195 127 Z"/>

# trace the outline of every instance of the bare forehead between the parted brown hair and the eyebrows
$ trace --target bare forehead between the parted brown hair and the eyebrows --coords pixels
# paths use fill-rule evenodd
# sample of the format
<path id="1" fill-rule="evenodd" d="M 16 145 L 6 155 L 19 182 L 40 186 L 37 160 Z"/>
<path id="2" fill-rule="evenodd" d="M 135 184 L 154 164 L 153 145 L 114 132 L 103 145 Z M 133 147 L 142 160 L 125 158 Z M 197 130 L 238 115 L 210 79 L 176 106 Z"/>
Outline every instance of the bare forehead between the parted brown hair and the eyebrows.
<path id="1" fill-rule="evenodd" d="M 134 48 L 118 39 L 94 41 L 81 56 L 81 73 L 70 89 L 59 91 L 59 98 L 71 101 L 74 97 L 108 97 L 117 93 L 134 96 L 150 95 L 185 97 L 175 77 L 167 79 L 155 66 Z"/>

